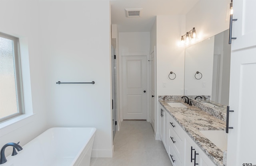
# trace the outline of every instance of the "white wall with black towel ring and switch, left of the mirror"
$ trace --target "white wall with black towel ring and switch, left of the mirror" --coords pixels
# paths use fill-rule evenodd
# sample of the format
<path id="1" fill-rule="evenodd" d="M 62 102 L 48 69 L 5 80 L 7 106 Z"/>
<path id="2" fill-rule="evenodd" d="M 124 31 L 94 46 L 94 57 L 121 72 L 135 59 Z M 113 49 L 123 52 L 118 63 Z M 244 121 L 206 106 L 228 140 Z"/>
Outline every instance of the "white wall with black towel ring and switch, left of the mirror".
<path id="1" fill-rule="evenodd" d="M 184 88 L 184 47 L 177 42 L 185 31 L 185 15 L 156 17 L 156 96 L 182 95 Z M 174 80 L 168 78 L 170 72 Z M 163 87 L 166 82 L 166 87 Z M 159 137 L 159 102 L 156 102 L 156 139 Z"/>

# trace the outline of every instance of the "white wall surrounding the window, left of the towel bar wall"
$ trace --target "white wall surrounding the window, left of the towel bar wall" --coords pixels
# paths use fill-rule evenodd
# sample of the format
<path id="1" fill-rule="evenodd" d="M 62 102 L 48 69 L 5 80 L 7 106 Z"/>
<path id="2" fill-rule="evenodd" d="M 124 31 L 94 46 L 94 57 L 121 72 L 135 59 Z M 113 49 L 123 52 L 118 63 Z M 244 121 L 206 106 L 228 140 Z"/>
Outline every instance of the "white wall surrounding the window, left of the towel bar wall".
<path id="1" fill-rule="evenodd" d="M 20 38 L 25 111 L 34 115 L 3 127 L 0 124 L 0 147 L 9 142 L 25 145 L 46 130 L 45 78 L 38 33 L 38 2 L 33 0 L 1 0 L 0 32 Z M 6 148 L 6 155 L 12 148 Z"/>

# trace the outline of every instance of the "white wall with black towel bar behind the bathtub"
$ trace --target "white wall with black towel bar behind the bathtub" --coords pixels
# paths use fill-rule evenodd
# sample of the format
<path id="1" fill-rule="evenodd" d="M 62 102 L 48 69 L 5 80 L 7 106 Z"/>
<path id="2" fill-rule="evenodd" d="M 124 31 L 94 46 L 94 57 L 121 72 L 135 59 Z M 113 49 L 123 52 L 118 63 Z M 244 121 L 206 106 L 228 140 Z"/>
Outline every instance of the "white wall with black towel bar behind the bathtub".
<path id="1" fill-rule="evenodd" d="M 41 1 L 40 20 L 48 126 L 96 127 L 92 156 L 112 157 L 109 1 Z"/>

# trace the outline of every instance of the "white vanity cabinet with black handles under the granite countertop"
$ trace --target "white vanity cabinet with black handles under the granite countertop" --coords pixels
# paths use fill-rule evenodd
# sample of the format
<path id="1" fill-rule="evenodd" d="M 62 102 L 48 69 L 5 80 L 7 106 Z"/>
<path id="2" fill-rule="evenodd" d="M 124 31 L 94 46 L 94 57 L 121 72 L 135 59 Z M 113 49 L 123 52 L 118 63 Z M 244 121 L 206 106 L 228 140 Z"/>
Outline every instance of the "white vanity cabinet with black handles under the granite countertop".
<path id="1" fill-rule="evenodd" d="M 162 106 L 160 113 L 160 137 L 173 166 L 216 166 Z"/>

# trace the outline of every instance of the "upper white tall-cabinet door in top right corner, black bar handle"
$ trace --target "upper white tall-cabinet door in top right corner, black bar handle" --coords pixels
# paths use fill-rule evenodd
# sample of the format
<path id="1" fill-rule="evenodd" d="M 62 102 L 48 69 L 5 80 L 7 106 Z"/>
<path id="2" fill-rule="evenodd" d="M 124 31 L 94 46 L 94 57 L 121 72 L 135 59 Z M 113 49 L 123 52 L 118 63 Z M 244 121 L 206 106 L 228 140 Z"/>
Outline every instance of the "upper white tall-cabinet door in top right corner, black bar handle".
<path id="1" fill-rule="evenodd" d="M 256 0 L 233 0 L 233 21 L 231 50 L 253 47 L 256 45 Z"/>

